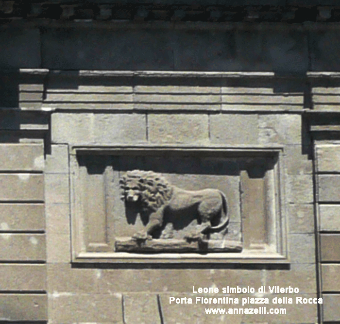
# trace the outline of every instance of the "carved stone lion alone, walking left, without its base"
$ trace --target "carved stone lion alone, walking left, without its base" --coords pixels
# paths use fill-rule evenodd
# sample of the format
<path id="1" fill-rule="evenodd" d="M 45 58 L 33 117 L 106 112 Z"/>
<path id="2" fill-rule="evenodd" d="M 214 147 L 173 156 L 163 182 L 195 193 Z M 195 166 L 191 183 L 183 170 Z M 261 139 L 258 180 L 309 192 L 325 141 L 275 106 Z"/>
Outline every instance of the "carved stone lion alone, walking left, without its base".
<path id="1" fill-rule="evenodd" d="M 139 203 L 141 211 L 149 214 L 145 231 L 136 233 L 133 239 L 152 239 L 153 232 L 164 226 L 165 219 L 172 223 L 183 223 L 181 218 L 196 219 L 202 225 L 200 231 L 186 238 L 197 240 L 210 232 L 221 231 L 229 221 L 225 195 L 218 189 L 183 190 L 171 186 L 160 174 L 140 170 L 126 172 L 119 183 L 121 198 Z"/>

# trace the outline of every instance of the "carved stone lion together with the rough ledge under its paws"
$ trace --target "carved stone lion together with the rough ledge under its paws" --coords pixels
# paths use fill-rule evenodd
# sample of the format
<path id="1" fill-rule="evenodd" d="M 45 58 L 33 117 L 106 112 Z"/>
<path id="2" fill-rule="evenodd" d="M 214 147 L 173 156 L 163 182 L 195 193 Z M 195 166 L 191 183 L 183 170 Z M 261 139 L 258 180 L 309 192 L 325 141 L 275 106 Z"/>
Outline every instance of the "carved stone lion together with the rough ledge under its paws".
<path id="1" fill-rule="evenodd" d="M 135 205 L 141 214 L 148 215 L 148 222 L 128 241 L 116 241 L 117 251 L 216 250 L 209 247 L 210 234 L 224 230 L 229 222 L 223 192 L 212 188 L 184 190 L 172 186 L 161 174 L 141 170 L 126 172 L 119 185 L 125 205 Z M 182 239 L 166 237 L 168 224 L 185 233 Z M 241 249 L 239 242 L 223 241 L 222 250 L 217 250 Z"/>

